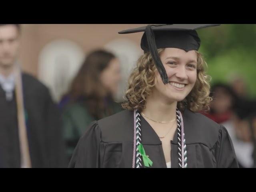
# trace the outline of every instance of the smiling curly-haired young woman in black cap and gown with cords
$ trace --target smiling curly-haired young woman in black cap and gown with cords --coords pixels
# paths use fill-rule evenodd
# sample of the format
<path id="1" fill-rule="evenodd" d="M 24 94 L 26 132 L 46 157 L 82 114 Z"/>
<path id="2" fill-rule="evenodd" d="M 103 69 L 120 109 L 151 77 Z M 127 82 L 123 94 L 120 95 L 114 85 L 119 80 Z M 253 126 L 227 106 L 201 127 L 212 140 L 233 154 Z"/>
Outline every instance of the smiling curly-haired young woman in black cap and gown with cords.
<path id="1" fill-rule="evenodd" d="M 207 110 L 209 76 L 198 53 L 197 29 L 215 24 L 148 25 L 144 55 L 128 80 L 125 109 L 94 121 L 80 138 L 69 167 L 238 167 L 226 128 Z"/>

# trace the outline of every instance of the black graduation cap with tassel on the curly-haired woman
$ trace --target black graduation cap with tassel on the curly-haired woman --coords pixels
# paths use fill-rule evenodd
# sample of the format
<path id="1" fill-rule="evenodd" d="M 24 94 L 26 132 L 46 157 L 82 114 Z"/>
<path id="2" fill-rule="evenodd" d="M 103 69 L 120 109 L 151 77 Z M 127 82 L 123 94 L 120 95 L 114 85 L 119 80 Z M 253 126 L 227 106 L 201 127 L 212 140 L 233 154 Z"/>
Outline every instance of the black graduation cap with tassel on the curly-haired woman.
<path id="1" fill-rule="evenodd" d="M 144 32 L 140 46 L 145 53 L 150 52 L 164 84 L 167 84 L 168 77 L 157 49 L 179 48 L 186 52 L 190 50 L 198 51 L 201 41 L 196 30 L 219 25 L 220 24 L 158 24 L 123 30 L 118 33 L 128 34 Z"/>

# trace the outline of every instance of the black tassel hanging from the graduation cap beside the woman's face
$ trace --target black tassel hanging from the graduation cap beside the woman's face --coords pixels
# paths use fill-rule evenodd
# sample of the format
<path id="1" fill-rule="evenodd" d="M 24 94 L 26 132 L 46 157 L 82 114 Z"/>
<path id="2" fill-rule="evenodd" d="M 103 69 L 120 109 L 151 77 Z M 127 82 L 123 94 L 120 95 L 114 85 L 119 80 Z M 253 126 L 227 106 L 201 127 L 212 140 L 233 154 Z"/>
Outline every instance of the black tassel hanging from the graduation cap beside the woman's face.
<path id="1" fill-rule="evenodd" d="M 164 65 L 162 64 L 160 57 L 158 55 L 154 32 L 150 25 L 148 25 L 146 27 L 145 32 L 146 32 L 146 37 L 147 37 L 147 41 L 148 41 L 148 48 L 149 48 L 150 54 L 152 55 L 152 58 L 154 59 L 156 68 L 162 78 L 163 83 L 168 84 L 168 77 L 166 74 L 166 70 L 165 70 Z"/>

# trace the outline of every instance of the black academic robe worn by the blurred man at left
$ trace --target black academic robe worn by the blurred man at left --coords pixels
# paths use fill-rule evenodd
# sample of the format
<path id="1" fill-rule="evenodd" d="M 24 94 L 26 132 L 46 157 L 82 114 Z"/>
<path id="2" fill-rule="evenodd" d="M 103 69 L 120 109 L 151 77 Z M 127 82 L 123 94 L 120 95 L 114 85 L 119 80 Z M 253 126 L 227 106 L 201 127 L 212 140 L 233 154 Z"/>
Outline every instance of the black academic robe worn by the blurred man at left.
<path id="1" fill-rule="evenodd" d="M 33 168 L 64 167 L 64 141 L 58 108 L 46 86 L 36 78 L 22 74 L 27 134 Z M 0 86 L 0 167 L 19 168 L 20 145 L 15 92 L 6 100 Z"/>

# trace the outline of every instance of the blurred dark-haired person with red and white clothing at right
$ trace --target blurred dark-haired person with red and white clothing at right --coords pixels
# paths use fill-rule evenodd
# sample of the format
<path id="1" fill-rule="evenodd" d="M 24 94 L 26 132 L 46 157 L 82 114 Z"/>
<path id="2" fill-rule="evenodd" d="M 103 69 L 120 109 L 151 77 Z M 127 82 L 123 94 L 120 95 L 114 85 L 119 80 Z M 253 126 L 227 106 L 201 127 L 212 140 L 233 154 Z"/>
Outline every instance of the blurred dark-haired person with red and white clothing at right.
<path id="1" fill-rule="evenodd" d="M 224 83 L 214 84 L 211 88 L 210 112 L 204 113 L 228 130 L 240 168 L 251 168 L 253 160 L 252 132 L 243 103 L 231 86 Z"/>

